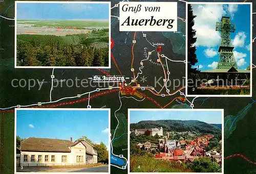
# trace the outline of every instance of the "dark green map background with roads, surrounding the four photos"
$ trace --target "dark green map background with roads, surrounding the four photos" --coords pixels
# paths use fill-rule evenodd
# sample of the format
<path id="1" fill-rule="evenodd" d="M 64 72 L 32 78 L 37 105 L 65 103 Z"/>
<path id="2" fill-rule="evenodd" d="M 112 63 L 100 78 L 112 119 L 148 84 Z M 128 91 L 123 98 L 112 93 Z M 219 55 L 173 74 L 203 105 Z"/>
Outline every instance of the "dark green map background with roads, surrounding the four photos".
<path id="1" fill-rule="evenodd" d="M 115 4 L 118 4 L 119 1 L 112 1 L 111 7 Z M 159 1 L 160 2 L 160 1 Z M 163 1 L 166 2 L 166 1 Z M 172 1 L 177 2 L 177 1 Z M 206 2 L 206 1 L 188 1 L 188 2 Z M 207 1 L 212 2 L 212 1 Z M 243 1 L 215 1 L 215 2 L 243 2 Z M 247 1 L 251 2 L 251 1 Z M 8 17 L 14 17 L 14 1 L 4 1 L 0 2 L 0 14 Z M 255 11 L 253 3 L 253 12 Z M 118 16 L 119 8 L 114 8 L 111 10 L 111 14 Z M 178 16 L 185 18 L 185 3 L 178 2 Z M 255 18 L 253 18 L 253 23 Z M 182 32 L 184 29 L 185 23 L 181 20 L 178 20 L 178 29 Z M 38 88 L 13 88 L 11 86 L 12 79 L 45 79 L 45 81 L 51 82 L 50 74 L 52 69 L 14 69 L 14 21 L 0 19 L 0 47 L 4 50 L 0 51 L 0 106 L 1 108 L 6 108 L 10 106 L 20 105 L 30 105 L 37 102 L 49 101 L 49 91 L 51 89 L 51 83 L 44 84 L 41 90 L 38 91 Z M 125 77 L 132 77 L 131 73 L 131 48 L 134 32 L 119 32 L 118 29 L 119 23 L 118 20 L 112 17 L 112 31 L 111 37 L 114 40 L 114 47 L 112 48 L 112 54 L 117 61 L 117 64 Z M 253 36 L 255 35 L 254 28 L 252 29 Z M 147 37 L 150 41 L 154 42 L 163 42 L 165 46 L 163 47 L 163 52 L 168 58 L 173 60 L 184 60 L 185 59 L 185 43 L 184 38 L 179 33 L 166 33 L 166 32 L 146 32 Z M 125 42 L 126 40 L 126 42 Z M 134 68 L 135 72 L 138 72 L 140 67 L 139 62 L 143 59 L 143 48 L 147 47 L 148 49 L 154 49 L 151 45 L 145 41 L 141 33 L 136 35 L 137 43 L 134 47 L 135 62 Z M 254 43 L 253 43 L 254 44 Z M 253 57 L 255 52 L 253 52 Z M 156 55 L 153 57 L 156 61 Z M 253 60 L 253 64 L 256 62 Z M 142 83 L 143 85 L 154 85 L 155 77 L 159 78 L 163 76 L 161 66 L 154 65 L 153 63 L 147 61 L 144 62 L 145 68 L 143 68 L 143 74 L 147 77 L 147 81 Z M 182 79 L 185 76 L 185 66 L 182 63 L 168 63 L 170 69 L 171 79 Z M 111 69 L 104 69 L 109 71 L 111 74 L 119 75 L 119 71 L 115 67 L 113 61 L 111 62 Z M 253 69 L 253 77 L 255 76 L 255 69 Z M 88 79 L 95 74 L 103 75 L 97 69 L 55 69 L 54 75 L 58 79 Z M 139 76 L 141 77 L 141 76 Z M 139 79 L 140 80 L 140 79 Z M 255 82 L 252 81 L 253 90 L 255 89 Z M 180 85 L 181 87 L 182 85 Z M 78 88 L 72 87 L 68 88 L 63 86 L 62 88 L 54 88 L 52 91 L 52 100 L 58 100 L 59 98 L 65 96 L 74 96 L 78 93 L 83 93 L 87 91 L 94 90 L 95 87 L 88 88 Z M 159 87 L 157 88 L 159 90 Z M 177 90 L 177 89 L 176 89 Z M 170 92 L 175 91 L 173 87 L 170 87 Z M 180 96 L 179 93 L 170 96 L 170 97 L 161 97 L 155 96 L 148 91 L 140 91 L 146 94 L 149 97 L 154 98 L 160 105 L 164 106 L 173 100 L 174 97 Z M 88 96 L 84 96 L 88 97 Z M 188 97 L 188 100 L 191 101 L 193 98 Z M 243 154 L 249 160 L 256 162 L 256 150 L 254 148 L 254 143 L 256 142 L 256 119 L 255 119 L 255 104 L 256 100 L 255 93 L 253 92 L 252 98 L 250 97 L 199 97 L 196 98 L 194 105 L 195 108 L 201 109 L 224 109 L 225 121 L 226 118 L 236 118 L 233 131 L 228 131 L 229 127 L 225 128 L 225 139 L 224 139 L 224 157 L 233 155 L 233 154 Z M 67 100 L 63 102 L 72 102 L 76 100 Z M 104 96 L 99 96 L 90 100 L 90 105 L 93 108 L 111 108 L 111 133 L 115 130 L 117 126 L 117 120 L 114 116 L 114 112 L 120 107 L 118 92 L 106 94 Z M 49 107 L 49 106 L 48 106 Z M 77 104 L 67 104 L 61 106 L 62 108 L 86 108 L 87 101 L 83 101 Z M 122 107 L 117 112 L 117 118 L 119 120 L 124 120 L 127 126 L 127 109 L 128 108 L 158 108 L 150 100 L 144 100 L 143 102 L 134 101 L 132 98 L 123 98 Z M 190 108 L 188 103 L 179 104 L 173 102 L 168 105 L 167 108 Z M 0 151 L 3 153 L 3 173 L 13 173 L 14 166 L 14 113 L 13 112 L 3 112 L 4 114 L 4 127 L 1 130 L 4 130 L 4 145 L 1 147 Z M 3 116 L 0 119 L 3 119 Z M 116 137 L 121 136 L 124 133 L 124 126 L 120 125 L 118 127 Z M 127 130 L 126 130 L 127 133 Z M 231 133 L 231 134 L 230 134 Z M 123 154 L 124 157 L 127 157 L 127 151 L 122 151 L 122 149 L 127 148 L 127 135 L 124 134 L 118 140 L 115 140 L 113 144 L 115 154 Z M 226 159 L 224 161 L 224 172 L 227 174 L 231 173 L 254 173 L 256 172 L 256 165 L 249 163 L 240 157 L 233 157 Z M 111 173 L 127 173 L 127 170 L 118 169 L 116 167 L 111 167 Z"/>

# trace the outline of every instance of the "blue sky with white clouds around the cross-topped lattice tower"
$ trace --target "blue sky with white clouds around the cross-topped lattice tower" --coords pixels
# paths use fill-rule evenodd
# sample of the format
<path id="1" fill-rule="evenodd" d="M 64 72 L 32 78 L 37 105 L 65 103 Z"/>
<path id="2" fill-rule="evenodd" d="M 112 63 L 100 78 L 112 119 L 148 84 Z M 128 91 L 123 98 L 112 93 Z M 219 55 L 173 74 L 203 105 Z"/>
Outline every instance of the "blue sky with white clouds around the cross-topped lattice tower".
<path id="1" fill-rule="evenodd" d="M 215 31 L 216 21 L 222 16 L 231 18 L 236 24 L 236 31 L 231 33 L 231 43 L 234 48 L 239 69 L 250 65 L 250 5 L 192 5 L 195 18 L 193 27 L 197 33 L 197 58 L 199 70 L 215 69 L 219 61 L 218 48 L 220 32 Z"/>

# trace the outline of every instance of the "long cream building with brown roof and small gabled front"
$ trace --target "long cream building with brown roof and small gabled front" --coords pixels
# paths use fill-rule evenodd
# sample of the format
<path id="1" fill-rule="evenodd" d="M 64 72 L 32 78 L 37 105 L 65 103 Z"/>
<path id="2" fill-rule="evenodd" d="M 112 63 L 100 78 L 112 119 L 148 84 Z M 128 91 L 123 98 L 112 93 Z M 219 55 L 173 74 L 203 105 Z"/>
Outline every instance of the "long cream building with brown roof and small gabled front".
<path id="1" fill-rule="evenodd" d="M 84 165 L 87 146 L 81 141 L 28 138 L 20 144 L 20 165 Z"/>

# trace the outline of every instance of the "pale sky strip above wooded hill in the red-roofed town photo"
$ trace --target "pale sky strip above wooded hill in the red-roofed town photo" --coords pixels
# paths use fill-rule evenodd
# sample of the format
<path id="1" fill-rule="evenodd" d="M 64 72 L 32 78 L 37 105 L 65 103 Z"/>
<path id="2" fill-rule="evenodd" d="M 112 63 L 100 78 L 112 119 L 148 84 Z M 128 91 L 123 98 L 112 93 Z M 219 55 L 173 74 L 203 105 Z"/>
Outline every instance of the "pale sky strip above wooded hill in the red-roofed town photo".
<path id="1" fill-rule="evenodd" d="M 142 120 L 199 120 L 207 123 L 222 122 L 221 111 L 130 111 L 130 123 L 137 123 Z"/>

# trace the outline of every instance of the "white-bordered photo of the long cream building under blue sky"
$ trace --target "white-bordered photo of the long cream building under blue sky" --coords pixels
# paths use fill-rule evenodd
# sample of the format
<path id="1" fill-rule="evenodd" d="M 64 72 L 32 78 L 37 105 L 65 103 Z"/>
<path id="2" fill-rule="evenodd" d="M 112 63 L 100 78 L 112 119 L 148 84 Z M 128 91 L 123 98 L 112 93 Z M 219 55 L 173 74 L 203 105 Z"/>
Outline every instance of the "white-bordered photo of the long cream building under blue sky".
<path id="1" fill-rule="evenodd" d="M 15 173 L 109 173 L 110 110 L 15 109 Z"/>

